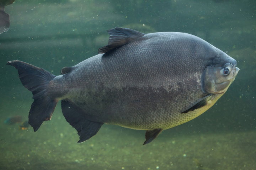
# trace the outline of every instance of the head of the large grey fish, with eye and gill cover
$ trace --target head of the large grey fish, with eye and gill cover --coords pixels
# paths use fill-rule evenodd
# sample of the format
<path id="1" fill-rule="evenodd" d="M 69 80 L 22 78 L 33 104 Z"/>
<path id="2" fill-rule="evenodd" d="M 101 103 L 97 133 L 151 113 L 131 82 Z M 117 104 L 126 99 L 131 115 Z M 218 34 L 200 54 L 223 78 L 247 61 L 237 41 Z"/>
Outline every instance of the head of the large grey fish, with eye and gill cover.
<path id="1" fill-rule="evenodd" d="M 202 74 L 203 91 L 207 94 L 225 93 L 240 70 L 236 60 L 215 48 L 215 55 L 208 64 Z"/>

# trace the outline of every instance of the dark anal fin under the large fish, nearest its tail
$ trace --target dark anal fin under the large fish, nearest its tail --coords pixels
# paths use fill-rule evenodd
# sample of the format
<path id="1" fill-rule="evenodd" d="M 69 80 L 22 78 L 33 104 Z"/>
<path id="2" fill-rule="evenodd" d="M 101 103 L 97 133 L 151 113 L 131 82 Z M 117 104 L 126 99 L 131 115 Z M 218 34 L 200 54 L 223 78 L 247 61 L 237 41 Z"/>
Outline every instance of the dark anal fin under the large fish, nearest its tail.
<path id="1" fill-rule="evenodd" d="M 96 135 L 103 125 L 103 123 L 86 119 L 84 111 L 68 100 L 62 100 L 62 113 L 66 121 L 78 131 L 80 136 L 78 143 L 84 142 Z"/>

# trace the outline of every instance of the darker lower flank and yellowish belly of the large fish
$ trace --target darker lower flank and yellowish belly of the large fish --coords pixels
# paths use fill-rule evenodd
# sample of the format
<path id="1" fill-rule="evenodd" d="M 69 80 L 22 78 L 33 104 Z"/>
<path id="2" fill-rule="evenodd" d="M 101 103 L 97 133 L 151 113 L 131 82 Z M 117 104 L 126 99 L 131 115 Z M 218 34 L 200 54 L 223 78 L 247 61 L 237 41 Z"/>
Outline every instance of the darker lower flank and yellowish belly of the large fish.
<path id="1" fill-rule="evenodd" d="M 181 113 L 191 98 L 201 93 L 187 92 L 191 97 L 160 88 L 127 87 L 119 90 L 98 89 L 82 92 L 70 98 L 91 121 L 114 124 L 130 129 L 169 129 L 190 121 L 204 113 L 218 100 L 213 97 L 207 105 L 192 112 Z M 183 101 L 183 102 L 182 102 Z"/>

